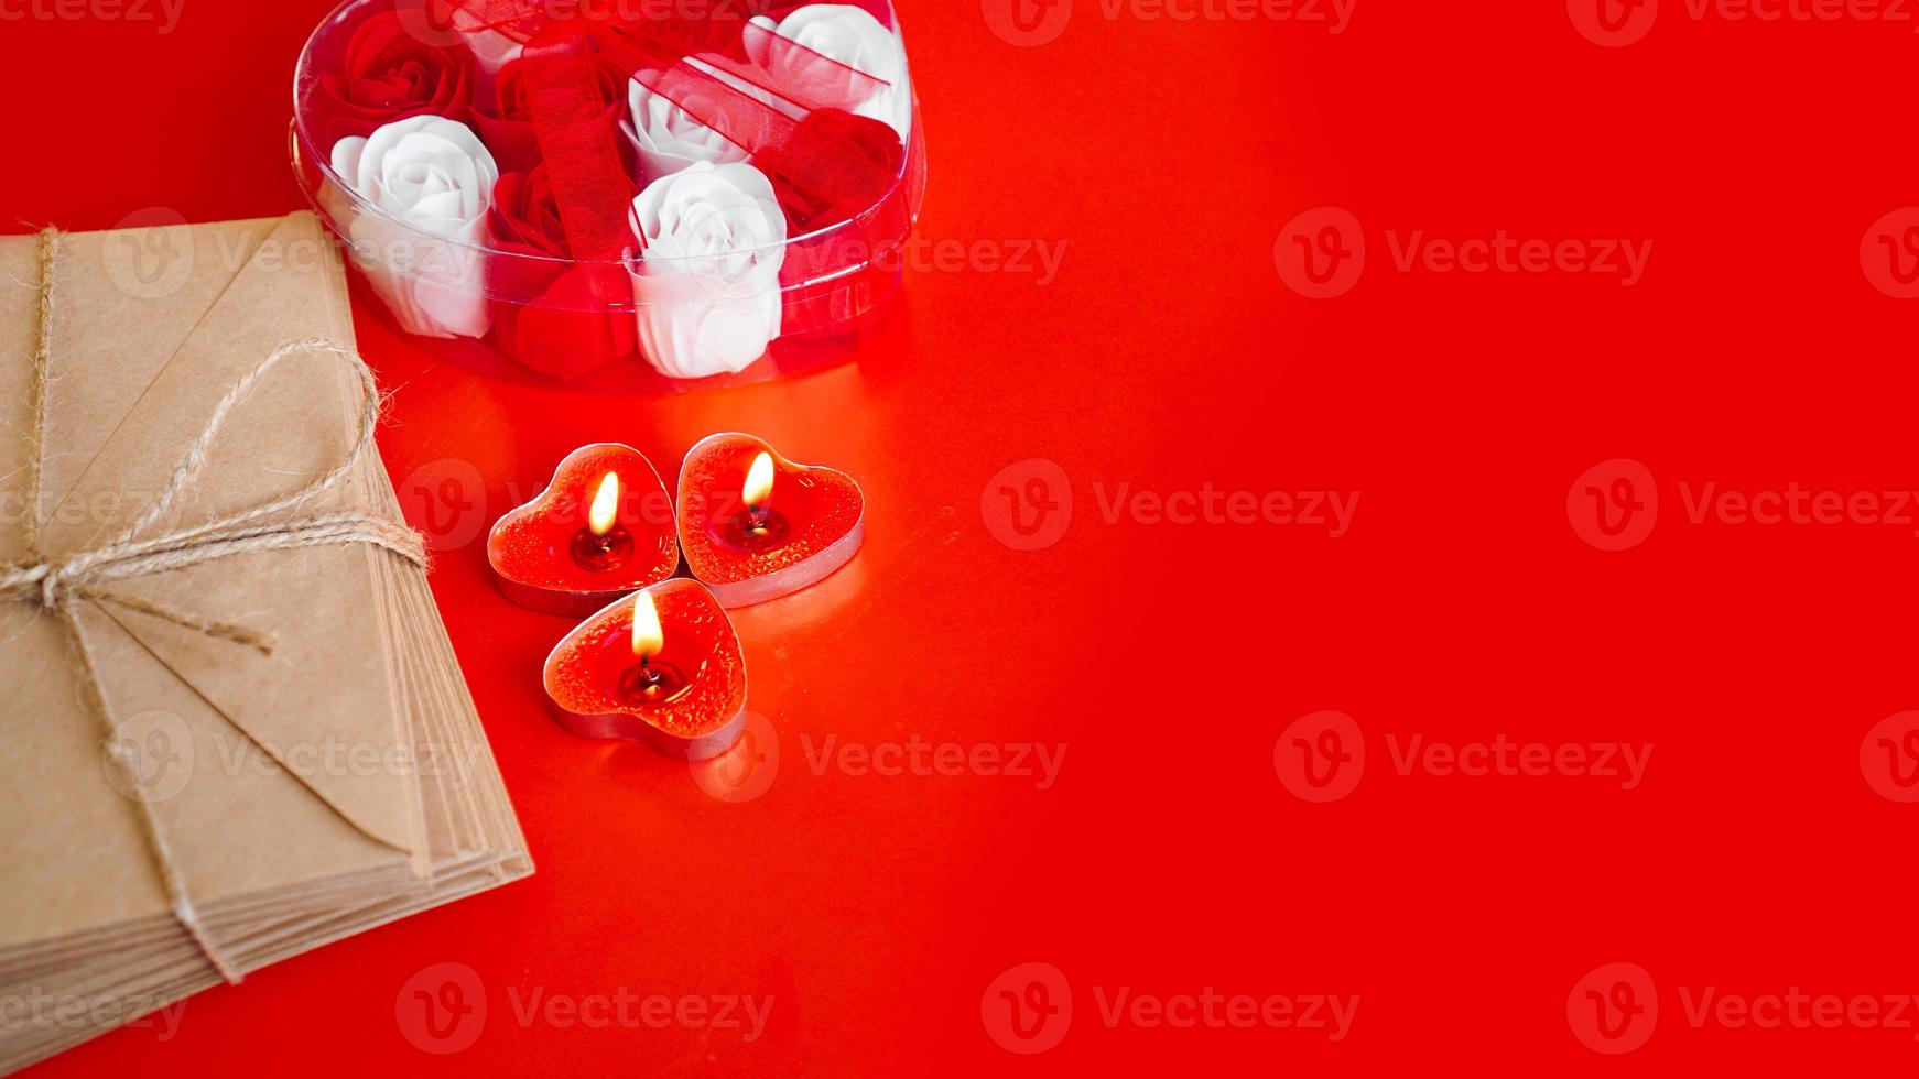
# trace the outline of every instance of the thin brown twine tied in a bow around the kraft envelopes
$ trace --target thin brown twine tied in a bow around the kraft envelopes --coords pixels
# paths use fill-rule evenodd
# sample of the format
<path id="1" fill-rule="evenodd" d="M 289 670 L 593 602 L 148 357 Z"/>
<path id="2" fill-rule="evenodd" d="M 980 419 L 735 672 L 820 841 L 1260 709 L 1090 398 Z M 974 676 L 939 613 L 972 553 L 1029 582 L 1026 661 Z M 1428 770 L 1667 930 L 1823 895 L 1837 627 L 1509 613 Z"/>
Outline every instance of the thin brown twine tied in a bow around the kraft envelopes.
<path id="1" fill-rule="evenodd" d="M 353 542 L 386 548 L 409 562 L 424 565 L 426 544 L 420 540 L 416 531 L 405 525 L 374 514 L 351 510 L 313 514 L 294 521 L 261 523 L 263 517 L 271 517 L 284 510 L 297 510 L 340 487 L 345 481 L 347 471 L 359 464 L 361 456 L 372 445 L 372 429 L 380 418 L 380 391 L 374 383 L 372 370 L 367 368 L 367 360 L 359 358 L 359 355 L 351 349 L 332 341 L 305 339 L 280 345 L 226 391 L 226 397 L 223 397 L 213 408 L 213 416 L 207 420 L 205 429 L 198 439 L 194 439 L 194 445 L 188 447 L 178 468 L 173 470 L 173 477 L 167 481 L 165 491 L 161 491 L 159 498 L 138 521 L 104 546 L 69 554 L 61 560 L 46 560 L 40 554 L 40 491 L 42 458 L 46 450 L 48 364 L 54 351 L 54 261 L 59 253 L 58 243 L 58 230 L 46 228 L 40 232 L 40 324 L 33 351 L 33 456 L 27 462 L 27 504 L 33 514 L 33 519 L 29 521 L 31 527 L 27 529 L 29 560 L 23 563 L 0 565 L 0 600 L 21 600 L 61 615 L 61 621 L 67 627 L 67 636 L 73 640 L 81 657 L 81 673 L 84 675 L 81 682 L 86 692 L 90 711 L 100 721 L 102 732 L 106 734 L 107 759 L 121 769 L 121 778 L 125 782 L 123 790 L 138 792 L 138 753 L 129 742 L 117 738 L 119 724 L 113 721 L 113 707 L 106 698 L 100 671 L 94 665 L 92 646 L 88 644 L 79 613 L 75 611 L 75 600 L 113 604 L 129 611 L 165 619 L 205 636 L 230 640 L 234 644 L 255 648 L 261 654 L 271 654 L 272 642 L 263 632 L 159 604 L 150 604 L 138 596 L 106 588 L 106 585 L 146 577 L 150 573 L 201 565 L 217 558 L 251 550 L 288 550 Z M 152 527 L 167 512 L 175 496 L 178 496 L 178 493 L 200 475 L 200 470 L 205 466 L 207 447 L 213 443 L 213 437 L 219 433 L 221 424 L 226 422 L 226 414 L 234 408 L 234 404 L 238 404 L 240 399 L 244 399 L 253 385 L 259 383 L 259 379 L 272 372 L 280 360 L 305 353 L 338 356 L 349 366 L 349 370 L 353 370 L 355 376 L 359 376 L 359 437 L 353 441 L 353 448 L 347 450 L 345 458 L 342 458 L 332 471 L 292 494 L 261 502 L 251 510 L 240 510 L 201 525 L 182 527 L 152 539 L 136 539 Z M 226 962 L 226 956 L 221 954 L 219 947 L 215 947 L 205 922 L 200 918 L 200 910 L 190 899 L 186 878 L 180 872 L 178 861 L 173 857 L 173 847 L 159 830 L 154 807 L 142 797 L 134 797 L 132 801 L 140 805 L 140 822 L 146 832 L 148 847 L 154 853 L 161 884 L 167 889 L 167 901 L 173 907 L 175 920 L 180 922 L 180 928 L 184 928 L 200 951 L 205 953 L 207 960 L 221 974 L 221 977 L 226 981 L 240 981 L 240 972 Z"/>

